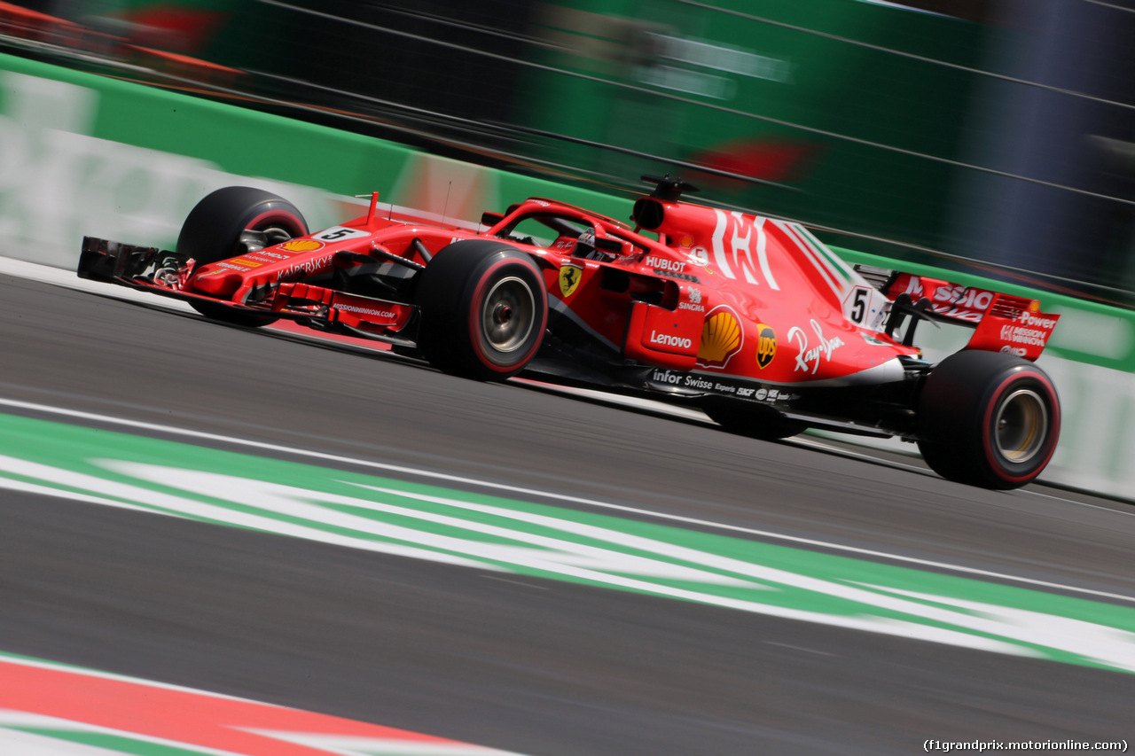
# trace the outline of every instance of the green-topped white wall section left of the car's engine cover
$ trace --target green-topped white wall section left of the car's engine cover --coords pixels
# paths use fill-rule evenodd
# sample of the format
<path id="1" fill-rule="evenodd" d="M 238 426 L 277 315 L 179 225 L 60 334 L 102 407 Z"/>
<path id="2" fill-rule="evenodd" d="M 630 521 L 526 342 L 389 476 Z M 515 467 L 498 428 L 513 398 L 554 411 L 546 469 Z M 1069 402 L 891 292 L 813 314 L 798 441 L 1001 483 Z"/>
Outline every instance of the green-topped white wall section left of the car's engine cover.
<path id="1" fill-rule="evenodd" d="M 166 245 L 213 188 L 254 184 L 313 226 L 378 190 L 384 202 L 476 222 L 548 194 L 603 212 L 623 203 L 398 144 L 0 54 L 0 244 L 68 267 L 84 235 Z M 363 205 L 362 201 L 359 202 Z"/>

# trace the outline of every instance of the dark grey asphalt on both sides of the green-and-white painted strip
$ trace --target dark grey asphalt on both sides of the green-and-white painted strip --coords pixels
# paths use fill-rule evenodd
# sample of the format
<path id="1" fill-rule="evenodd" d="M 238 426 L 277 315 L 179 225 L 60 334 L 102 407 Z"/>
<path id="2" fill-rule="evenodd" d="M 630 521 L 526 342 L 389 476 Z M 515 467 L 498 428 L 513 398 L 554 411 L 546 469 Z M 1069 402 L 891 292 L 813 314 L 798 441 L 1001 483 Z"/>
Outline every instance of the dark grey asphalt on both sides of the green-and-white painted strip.
<path id="1" fill-rule="evenodd" d="M 1085 494 L 978 490 L 5 275 L 0 354 L 7 400 L 1135 596 L 1135 507 Z M 0 650 L 532 756 L 1135 734 L 1119 672 L 44 504 L 0 493 Z"/>

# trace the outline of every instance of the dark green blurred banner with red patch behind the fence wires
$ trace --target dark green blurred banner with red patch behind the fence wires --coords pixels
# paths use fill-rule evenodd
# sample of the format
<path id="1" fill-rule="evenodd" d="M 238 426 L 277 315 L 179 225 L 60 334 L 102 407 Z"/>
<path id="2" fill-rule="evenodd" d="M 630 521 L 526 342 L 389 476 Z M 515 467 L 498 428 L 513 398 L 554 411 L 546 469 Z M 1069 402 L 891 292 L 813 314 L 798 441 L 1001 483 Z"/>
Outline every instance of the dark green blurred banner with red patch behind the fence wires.
<path id="1" fill-rule="evenodd" d="M 986 27 L 847 0 L 549 0 L 536 17 L 548 43 L 537 60 L 582 77 L 529 72 L 532 126 L 788 185 L 693 180 L 734 204 L 941 245 L 956 171 L 920 156 L 962 158 L 959 103 L 981 81 L 965 68 Z M 919 59 L 888 51 L 911 48 Z M 659 169 L 583 144 L 548 149 L 608 175 Z"/>

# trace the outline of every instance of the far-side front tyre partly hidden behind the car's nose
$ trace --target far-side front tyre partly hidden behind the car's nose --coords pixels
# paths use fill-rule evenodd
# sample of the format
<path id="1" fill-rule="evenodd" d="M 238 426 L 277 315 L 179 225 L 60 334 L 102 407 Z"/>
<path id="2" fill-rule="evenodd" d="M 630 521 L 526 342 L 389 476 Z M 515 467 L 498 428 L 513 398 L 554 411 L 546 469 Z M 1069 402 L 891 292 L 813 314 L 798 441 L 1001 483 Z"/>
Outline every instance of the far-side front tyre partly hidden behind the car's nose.
<path id="1" fill-rule="evenodd" d="M 308 221 L 287 200 L 251 186 L 226 186 L 209 194 L 190 211 L 177 237 L 177 253 L 208 264 L 236 257 L 241 233 L 274 232 L 276 238 L 308 234 Z M 191 301 L 201 314 L 239 326 L 267 326 L 270 316 L 241 312 L 224 304 Z"/>

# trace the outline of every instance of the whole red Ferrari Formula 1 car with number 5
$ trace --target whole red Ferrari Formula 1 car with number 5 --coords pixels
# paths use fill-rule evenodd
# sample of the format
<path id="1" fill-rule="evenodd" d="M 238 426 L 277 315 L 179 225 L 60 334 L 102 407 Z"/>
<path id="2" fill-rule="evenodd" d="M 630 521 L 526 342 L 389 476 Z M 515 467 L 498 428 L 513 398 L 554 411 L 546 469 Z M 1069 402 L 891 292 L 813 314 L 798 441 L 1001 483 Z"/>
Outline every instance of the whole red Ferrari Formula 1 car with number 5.
<path id="1" fill-rule="evenodd" d="M 1060 404 L 1033 364 L 1058 316 L 1035 300 L 854 269 L 798 224 L 683 202 L 669 177 L 633 228 L 530 199 L 487 230 L 370 211 L 309 233 L 291 203 L 228 187 L 173 252 L 86 237 L 78 275 L 188 301 L 210 318 L 287 318 L 365 336 L 459 376 L 522 370 L 692 403 L 726 428 L 918 444 L 951 480 L 1014 488 L 1048 464 Z M 938 364 L 920 320 L 968 326 Z"/>

